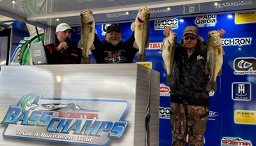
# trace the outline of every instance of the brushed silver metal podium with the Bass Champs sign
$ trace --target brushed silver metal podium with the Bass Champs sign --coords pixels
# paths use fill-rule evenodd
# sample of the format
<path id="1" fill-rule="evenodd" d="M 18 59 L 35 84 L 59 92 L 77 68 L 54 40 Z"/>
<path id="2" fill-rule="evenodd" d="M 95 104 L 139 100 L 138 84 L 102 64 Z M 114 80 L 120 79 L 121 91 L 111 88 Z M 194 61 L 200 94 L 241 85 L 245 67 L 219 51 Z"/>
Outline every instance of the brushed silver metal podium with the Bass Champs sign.
<path id="1" fill-rule="evenodd" d="M 1 66 L 0 145 L 159 145 L 159 72 L 139 64 Z"/>

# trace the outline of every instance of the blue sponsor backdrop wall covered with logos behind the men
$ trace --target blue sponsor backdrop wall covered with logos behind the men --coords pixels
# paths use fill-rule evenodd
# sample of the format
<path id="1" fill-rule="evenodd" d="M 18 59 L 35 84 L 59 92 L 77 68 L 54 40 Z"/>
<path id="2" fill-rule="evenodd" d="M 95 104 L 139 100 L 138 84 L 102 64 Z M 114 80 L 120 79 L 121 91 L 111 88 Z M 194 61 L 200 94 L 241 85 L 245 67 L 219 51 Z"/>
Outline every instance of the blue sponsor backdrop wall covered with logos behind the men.
<path id="1" fill-rule="evenodd" d="M 211 92 L 211 112 L 205 133 L 205 145 L 256 145 L 256 13 L 231 13 L 222 15 L 198 15 L 197 17 L 170 18 L 150 21 L 150 45 L 146 50 L 146 62 L 139 62 L 160 74 L 159 145 L 171 145 L 169 121 L 169 84 L 163 68 L 162 40 L 164 27 L 172 27 L 182 38 L 183 29 L 194 25 L 199 35 L 207 41 L 211 30 L 225 29 L 222 38 L 222 75 L 218 76 L 218 90 Z M 123 41 L 131 36 L 132 22 L 119 23 Z M 104 39 L 108 24 L 96 26 L 97 36 Z M 73 41 L 80 38 L 80 27 L 74 27 Z M 92 64 L 95 63 L 91 55 Z M 137 56 L 136 56 L 137 57 Z M 136 62 L 134 57 L 134 63 Z"/>

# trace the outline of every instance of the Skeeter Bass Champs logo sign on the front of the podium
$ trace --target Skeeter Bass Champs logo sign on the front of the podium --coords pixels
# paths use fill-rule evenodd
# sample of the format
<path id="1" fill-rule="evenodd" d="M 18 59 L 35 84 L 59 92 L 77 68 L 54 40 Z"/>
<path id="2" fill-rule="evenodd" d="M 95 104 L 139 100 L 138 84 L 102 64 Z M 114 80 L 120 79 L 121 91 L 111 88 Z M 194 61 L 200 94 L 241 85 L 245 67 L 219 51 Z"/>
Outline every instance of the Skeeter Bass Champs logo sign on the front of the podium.
<path id="1" fill-rule="evenodd" d="M 127 101 L 41 98 L 28 94 L 10 106 L 3 136 L 77 145 L 108 145 L 127 129 Z M 118 110 L 117 110 L 118 109 Z"/>

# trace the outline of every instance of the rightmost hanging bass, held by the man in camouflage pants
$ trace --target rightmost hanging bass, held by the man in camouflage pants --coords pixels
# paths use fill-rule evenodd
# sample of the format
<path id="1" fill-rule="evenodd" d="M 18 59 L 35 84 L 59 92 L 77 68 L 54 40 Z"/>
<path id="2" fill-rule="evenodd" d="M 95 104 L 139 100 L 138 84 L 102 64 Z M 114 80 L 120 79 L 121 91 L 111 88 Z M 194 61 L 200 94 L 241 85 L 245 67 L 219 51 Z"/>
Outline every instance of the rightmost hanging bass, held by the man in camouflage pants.
<path id="1" fill-rule="evenodd" d="M 208 31 L 207 36 L 207 61 L 205 72 L 210 75 L 210 80 L 206 87 L 207 91 L 217 90 L 216 78 L 222 73 L 223 55 L 225 54 L 222 48 L 220 31 Z"/>

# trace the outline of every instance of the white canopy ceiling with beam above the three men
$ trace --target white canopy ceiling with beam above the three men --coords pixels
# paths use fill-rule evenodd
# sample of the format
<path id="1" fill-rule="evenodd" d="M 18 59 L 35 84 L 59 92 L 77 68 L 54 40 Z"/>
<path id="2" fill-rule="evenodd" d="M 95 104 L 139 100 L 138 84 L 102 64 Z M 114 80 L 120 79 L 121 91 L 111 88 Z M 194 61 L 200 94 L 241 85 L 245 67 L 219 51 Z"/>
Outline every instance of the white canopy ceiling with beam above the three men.
<path id="1" fill-rule="evenodd" d="M 255 0 L 0 0 L 0 15 L 43 27 L 55 27 L 60 22 L 80 25 L 80 11 L 89 8 L 97 24 L 133 21 L 138 8 L 148 6 L 150 19 L 185 17 L 205 13 L 256 11 Z M 218 6 L 214 3 L 218 2 Z M 170 6 L 171 10 L 166 8 Z M 196 11 L 187 13 L 185 8 Z M 199 6 L 199 8 L 197 8 Z M 125 12 L 129 11 L 129 15 Z M 56 18 L 60 21 L 57 22 Z"/>

